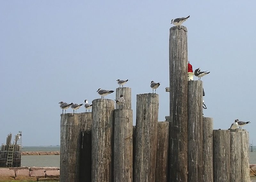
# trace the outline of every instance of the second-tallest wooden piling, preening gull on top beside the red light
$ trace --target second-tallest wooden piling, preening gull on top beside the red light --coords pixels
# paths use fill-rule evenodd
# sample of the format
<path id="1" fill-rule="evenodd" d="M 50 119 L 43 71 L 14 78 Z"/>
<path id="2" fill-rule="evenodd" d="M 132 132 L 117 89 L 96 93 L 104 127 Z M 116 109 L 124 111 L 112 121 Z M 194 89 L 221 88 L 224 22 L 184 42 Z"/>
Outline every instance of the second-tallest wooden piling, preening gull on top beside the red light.
<path id="1" fill-rule="evenodd" d="M 188 81 L 188 181 L 203 181 L 202 81 Z"/>

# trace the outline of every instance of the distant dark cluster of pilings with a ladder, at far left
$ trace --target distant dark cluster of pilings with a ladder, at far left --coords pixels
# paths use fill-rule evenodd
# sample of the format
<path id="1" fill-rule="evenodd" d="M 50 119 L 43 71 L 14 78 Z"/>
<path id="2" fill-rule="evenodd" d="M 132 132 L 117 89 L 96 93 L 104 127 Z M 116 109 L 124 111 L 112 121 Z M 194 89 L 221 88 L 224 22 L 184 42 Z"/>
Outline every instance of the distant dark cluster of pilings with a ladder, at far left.
<path id="1" fill-rule="evenodd" d="M 15 135 L 15 143 L 11 143 L 12 134 L 6 137 L 6 144 L 2 144 L 0 151 L 0 167 L 20 167 L 21 145 L 17 143 L 18 135 Z"/>

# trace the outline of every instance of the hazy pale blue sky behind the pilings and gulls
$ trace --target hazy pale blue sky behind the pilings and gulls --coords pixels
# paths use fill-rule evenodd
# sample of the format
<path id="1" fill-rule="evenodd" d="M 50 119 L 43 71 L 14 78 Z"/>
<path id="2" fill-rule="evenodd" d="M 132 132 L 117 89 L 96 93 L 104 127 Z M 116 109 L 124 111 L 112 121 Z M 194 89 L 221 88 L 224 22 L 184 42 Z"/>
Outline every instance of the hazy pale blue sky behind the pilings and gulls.
<path id="1" fill-rule="evenodd" d="M 98 88 L 116 90 L 117 79 L 130 80 L 133 114 L 136 94 L 152 92 L 151 80 L 161 82 L 158 120 L 165 120 L 170 23 L 190 15 L 183 23 L 188 59 L 193 70 L 211 71 L 201 79 L 204 116 L 214 129 L 250 120 L 244 128 L 256 144 L 255 7 L 220 0 L 0 1 L 0 143 L 20 130 L 25 146 L 59 145 L 58 103 L 92 103 Z"/>

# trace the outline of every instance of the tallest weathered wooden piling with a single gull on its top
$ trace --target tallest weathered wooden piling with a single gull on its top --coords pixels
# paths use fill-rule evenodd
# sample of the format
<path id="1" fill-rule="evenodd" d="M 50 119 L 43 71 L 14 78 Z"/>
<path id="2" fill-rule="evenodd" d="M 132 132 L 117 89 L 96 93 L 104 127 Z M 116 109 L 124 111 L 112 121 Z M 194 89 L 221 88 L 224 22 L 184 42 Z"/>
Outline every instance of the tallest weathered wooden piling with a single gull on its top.
<path id="1" fill-rule="evenodd" d="M 172 26 L 169 37 L 170 135 L 168 181 L 188 178 L 187 28 Z"/>

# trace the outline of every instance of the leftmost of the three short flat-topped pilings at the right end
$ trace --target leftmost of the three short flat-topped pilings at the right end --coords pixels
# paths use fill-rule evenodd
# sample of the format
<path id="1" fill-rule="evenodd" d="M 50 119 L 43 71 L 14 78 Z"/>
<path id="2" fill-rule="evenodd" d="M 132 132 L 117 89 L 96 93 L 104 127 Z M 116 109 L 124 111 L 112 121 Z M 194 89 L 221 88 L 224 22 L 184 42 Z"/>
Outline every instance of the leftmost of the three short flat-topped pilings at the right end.
<path id="1" fill-rule="evenodd" d="M 213 181 L 230 181 L 230 131 L 213 130 Z"/>

